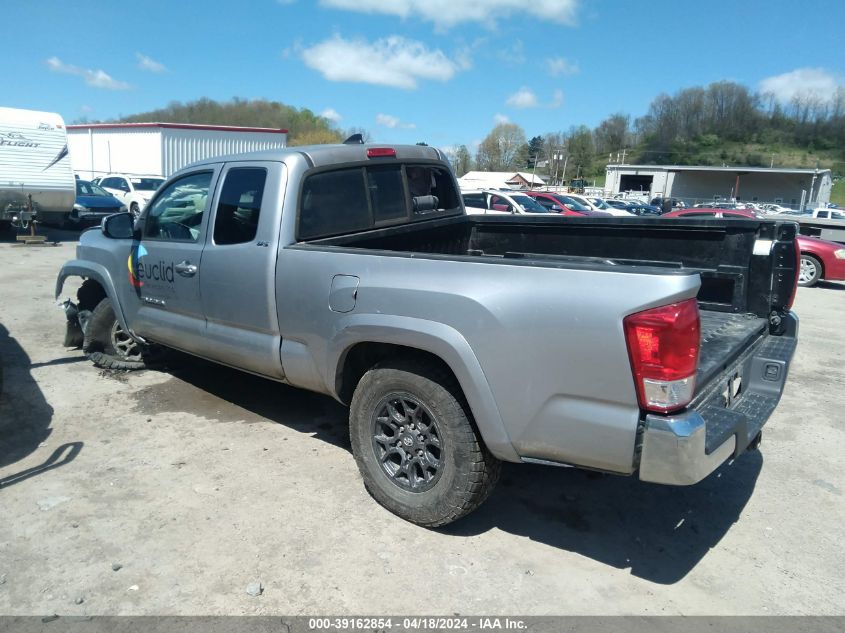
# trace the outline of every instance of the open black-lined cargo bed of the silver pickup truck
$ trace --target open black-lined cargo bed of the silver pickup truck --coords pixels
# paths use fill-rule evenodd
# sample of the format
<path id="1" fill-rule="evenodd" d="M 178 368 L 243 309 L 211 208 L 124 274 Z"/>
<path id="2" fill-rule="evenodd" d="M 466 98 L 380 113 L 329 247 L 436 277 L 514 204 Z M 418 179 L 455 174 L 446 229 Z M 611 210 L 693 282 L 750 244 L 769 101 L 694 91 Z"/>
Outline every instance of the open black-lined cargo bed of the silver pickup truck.
<path id="1" fill-rule="evenodd" d="M 769 316 L 792 288 L 794 235 L 794 224 L 758 220 L 470 216 L 313 244 L 527 266 L 698 273 L 701 392 L 768 336 Z"/>

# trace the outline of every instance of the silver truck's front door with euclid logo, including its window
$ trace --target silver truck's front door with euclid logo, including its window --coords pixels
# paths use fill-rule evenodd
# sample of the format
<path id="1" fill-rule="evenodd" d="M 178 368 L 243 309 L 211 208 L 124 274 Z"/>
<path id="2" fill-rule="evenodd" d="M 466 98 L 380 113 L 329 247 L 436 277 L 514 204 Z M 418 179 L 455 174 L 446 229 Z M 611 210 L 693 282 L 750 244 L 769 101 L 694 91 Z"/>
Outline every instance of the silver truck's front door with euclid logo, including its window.
<path id="1" fill-rule="evenodd" d="M 129 284 L 122 284 L 136 333 L 193 353 L 204 343 L 202 251 L 216 175 L 214 168 L 198 169 L 156 195 L 142 216 L 141 240 L 132 245 Z"/>

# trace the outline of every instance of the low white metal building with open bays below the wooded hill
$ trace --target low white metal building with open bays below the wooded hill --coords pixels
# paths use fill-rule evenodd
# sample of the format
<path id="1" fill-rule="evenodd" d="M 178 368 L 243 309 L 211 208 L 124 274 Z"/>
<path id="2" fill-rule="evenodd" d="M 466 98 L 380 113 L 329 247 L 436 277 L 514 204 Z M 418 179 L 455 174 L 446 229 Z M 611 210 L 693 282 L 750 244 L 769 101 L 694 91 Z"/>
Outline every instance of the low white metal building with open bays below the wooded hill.
<path id="1" fill-rule="evenodd" d="M 680 198 L 688 204 L 715 200 L 769 202 L 798 207 L 830 202 L 829 169 L 706 167 L 699 165 L 608 165 L 608 196 L 641 191 L 649 198 Z"/>

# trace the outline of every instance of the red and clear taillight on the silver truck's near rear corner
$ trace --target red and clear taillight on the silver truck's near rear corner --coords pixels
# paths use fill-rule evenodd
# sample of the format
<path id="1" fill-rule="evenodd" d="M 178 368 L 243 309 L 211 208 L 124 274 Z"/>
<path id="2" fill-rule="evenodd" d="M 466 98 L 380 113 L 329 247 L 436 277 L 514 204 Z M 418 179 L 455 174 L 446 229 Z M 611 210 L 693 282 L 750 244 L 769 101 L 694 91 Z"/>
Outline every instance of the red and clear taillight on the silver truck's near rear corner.
<path id="1" fill-rule="evenodd" d="M 668 413 L 689 404 L 701 347 L 696 300 L 630 314 L 623 327 L 640 407 Z"/>

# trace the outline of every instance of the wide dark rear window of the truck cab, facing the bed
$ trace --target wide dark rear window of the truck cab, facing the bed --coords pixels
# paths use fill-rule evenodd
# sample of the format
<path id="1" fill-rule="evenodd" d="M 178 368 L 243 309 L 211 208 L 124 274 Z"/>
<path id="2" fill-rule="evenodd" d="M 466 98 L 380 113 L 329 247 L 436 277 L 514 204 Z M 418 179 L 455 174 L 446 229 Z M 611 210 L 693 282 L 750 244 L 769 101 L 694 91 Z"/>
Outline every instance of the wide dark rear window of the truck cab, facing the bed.
<path id="1" fill-rule="evenodd" d="M 321 169 L 303 181 L 297 239 L 407 224 L 460 211 L 451 172 L 440 163 Z"/>

